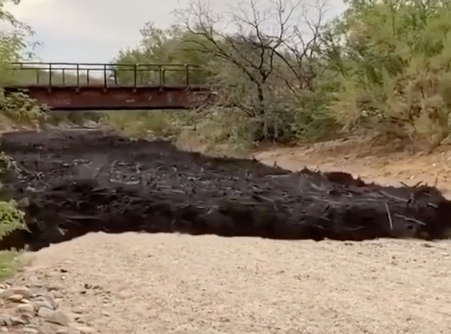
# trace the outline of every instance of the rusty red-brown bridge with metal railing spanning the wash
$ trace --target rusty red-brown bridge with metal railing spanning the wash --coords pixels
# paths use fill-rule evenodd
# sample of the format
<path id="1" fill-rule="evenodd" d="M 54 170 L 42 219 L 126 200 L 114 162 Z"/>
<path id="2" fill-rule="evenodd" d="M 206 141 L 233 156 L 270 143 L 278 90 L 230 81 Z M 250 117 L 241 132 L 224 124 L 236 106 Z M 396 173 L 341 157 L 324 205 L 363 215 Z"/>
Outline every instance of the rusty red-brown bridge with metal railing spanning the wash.
<path id="1" fill-rule="evenodd" d="M 195 64 L 13 62 L 7 92 L 52 110 L 189 109 L 216 101 Z"/>

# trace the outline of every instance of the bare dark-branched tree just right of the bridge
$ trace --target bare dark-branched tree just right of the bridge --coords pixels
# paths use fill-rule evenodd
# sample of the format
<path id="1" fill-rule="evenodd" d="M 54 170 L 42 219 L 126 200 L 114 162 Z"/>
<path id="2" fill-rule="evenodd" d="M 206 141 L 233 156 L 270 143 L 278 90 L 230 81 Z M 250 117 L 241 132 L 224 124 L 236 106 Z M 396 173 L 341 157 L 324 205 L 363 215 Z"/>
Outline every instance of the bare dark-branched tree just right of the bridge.
<path id="1" fill-rule="evenodd" d="M 287 98 L 294 94 L 299 103 L 304 89 L 313 89 L 313 63 L 305 60 L 314 58 L 324 8 L 317 3 L 316 20 L 306 9 L 301 1 L 248 0 L 231 11 L 215 12 L 210 3 L 196 0 L 176 10 L 182 26 L 201 38 L 193 41 L 197 51 L 216 59 L 215 78 L 232 92 L 221 94 L 228 98 L 223 104 L 257 119 L 264 138 L 276 138 L 285 127 L 278 126 L 281 112 L 296 112 L 294 105 L 287 107 Z M 313 36 L 302 32 L 299 22 Z"/>

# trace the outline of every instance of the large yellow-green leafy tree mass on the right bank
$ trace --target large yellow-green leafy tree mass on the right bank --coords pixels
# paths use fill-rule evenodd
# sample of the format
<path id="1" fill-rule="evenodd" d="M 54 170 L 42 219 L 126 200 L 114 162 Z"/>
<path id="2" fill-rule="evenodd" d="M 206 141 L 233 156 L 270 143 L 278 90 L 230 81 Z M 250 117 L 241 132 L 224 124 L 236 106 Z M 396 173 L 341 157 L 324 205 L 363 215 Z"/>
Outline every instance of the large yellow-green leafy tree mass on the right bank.
<path id="1" fill-rule="evenodd" d="M 329 110 L 345 129 L 375 128 L 431 148 L 449 135 L 449 1 L 350 1 L 332 30 L 324 54 L 341 83 Z"/>

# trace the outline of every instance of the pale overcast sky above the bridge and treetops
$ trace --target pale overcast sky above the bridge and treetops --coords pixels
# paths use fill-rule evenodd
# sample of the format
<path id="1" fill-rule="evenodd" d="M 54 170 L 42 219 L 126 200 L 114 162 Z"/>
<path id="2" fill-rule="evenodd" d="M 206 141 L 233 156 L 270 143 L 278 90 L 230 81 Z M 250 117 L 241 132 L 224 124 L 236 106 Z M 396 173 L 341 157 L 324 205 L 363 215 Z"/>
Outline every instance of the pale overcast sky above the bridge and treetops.
<path id="1" fill-rule="evenodd" d="M 22 0 L 9 9 L 36 31 L 43 61 L 108 62 L 124 47 L 139 42 L 139 29 L 154 21 L 175 23 L 172 11 L 189 0 Z M 236 3 L 237 0 L 214 0 Z M 331 10 L 343 8 L 331 0 Z"/>

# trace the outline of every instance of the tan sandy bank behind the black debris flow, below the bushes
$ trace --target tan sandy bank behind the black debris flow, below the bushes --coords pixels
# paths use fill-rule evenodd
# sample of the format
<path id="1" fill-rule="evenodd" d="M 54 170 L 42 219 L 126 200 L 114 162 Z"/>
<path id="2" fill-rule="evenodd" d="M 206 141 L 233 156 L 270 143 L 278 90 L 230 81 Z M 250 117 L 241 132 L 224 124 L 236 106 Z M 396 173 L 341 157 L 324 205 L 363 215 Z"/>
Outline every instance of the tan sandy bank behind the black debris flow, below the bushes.
<path id="1" fill-rule="evenodd" d="M 451 196 L 451 146 L 432 153 L 411 152 L 399 143 L 371 145 L 370 140 L 350 137 L 303 147 L 268 147 L 253 155 L 267 164 L 298 170 L 307 166 L 322 171 L 347 171 L 365 181 L 414 185 L 419 181 L 436 186 Z"/>

